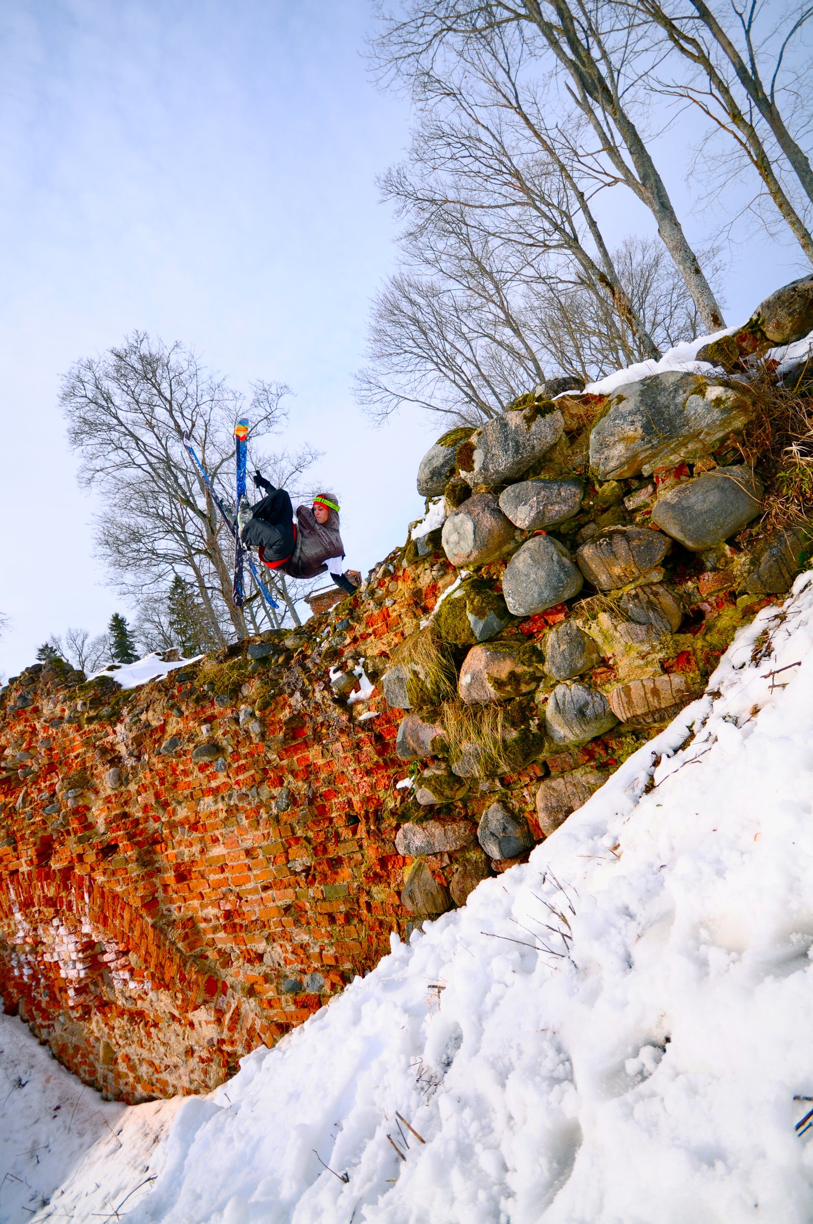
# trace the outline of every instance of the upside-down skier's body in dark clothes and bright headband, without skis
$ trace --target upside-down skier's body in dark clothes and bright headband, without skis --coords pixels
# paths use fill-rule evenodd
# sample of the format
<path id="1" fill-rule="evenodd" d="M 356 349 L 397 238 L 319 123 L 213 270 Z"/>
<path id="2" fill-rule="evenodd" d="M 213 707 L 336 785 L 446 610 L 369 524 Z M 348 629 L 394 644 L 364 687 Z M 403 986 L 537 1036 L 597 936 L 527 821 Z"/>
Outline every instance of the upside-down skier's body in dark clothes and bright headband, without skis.
<path id="1" fill-rule="evenodd" d="M 296 521 L 290 497 L 274 488 L 258 471 L 253 482 L 266 496 L 255 506 L 241 501 L 238 510 L 240 539 L 256 548 L 268 569 L 290 578 L 316 578 L 326 570 L 348 595 L 358 589 L 358 570 L 343 572 L 344 545 L 339 535 L 339 503 L 333 493 L 317 493 L 310 506 L 298 506 Z"/>

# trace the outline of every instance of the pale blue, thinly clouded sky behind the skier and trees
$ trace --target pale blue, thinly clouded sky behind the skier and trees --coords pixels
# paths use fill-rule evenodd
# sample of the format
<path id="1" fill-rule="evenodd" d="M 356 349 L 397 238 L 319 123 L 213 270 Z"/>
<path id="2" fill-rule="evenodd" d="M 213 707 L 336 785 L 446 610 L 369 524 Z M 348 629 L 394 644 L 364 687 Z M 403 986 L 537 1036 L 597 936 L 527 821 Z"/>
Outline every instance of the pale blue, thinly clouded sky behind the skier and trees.
<path id="1" fill-rule="evenodd" d="M 1 6 L 0 673 L 51 633 L 132 612 L 93 556 L 98 506 L 77 487 L 58 389 L 135 329 L 193 345 L 242 390 L 293 388 L 285 441 L 324 453 L 313 475 L 342 497 L 348 564 L 365 572 L 422 512 L 415 472 L 437 424 L 377 428 L 351 395 L 395 261 L 376 175 L 410 118 L 369 80 L 371 28 L 367 0 Z M 665 152 L 680 200 L 684 151 Z M 620 197 L 611 231 L 633 213 Z M 754 242 L 729 271 L 733 321 L 800 275 Z"/>

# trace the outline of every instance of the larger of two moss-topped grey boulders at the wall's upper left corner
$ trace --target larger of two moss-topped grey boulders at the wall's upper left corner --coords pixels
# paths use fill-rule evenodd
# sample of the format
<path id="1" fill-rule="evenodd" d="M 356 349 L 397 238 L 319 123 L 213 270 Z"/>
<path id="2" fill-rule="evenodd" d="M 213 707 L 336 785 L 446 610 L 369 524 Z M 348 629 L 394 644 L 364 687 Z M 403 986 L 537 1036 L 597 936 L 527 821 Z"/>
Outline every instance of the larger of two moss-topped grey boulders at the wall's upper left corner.
<path id="1" fill-rule="evenodd" d="M 473 436 L 471 466 L 460 475 L 474 487 L 502 485 L 528 471 L 563 432 L 564 417 L 550 405 L 502 412 Z"/>

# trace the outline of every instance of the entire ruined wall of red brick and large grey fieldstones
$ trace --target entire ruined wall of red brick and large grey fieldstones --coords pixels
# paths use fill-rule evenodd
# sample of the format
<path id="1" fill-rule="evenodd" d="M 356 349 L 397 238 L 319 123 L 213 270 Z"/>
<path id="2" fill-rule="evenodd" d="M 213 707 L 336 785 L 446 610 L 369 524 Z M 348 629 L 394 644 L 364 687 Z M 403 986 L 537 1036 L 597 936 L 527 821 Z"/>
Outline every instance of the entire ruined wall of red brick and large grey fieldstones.
<path id="1" fill-rule="evenodd" d="M 12 678 L 6 1011 L 108 1095 L 204 1091 L 525 858 L 806 563 L 765 519 L 775 457 L 743 463 L 737 343 L 727 372 L 545 386 L 444 435 L 424 526 L 300 630 L 138 689 Z"/>

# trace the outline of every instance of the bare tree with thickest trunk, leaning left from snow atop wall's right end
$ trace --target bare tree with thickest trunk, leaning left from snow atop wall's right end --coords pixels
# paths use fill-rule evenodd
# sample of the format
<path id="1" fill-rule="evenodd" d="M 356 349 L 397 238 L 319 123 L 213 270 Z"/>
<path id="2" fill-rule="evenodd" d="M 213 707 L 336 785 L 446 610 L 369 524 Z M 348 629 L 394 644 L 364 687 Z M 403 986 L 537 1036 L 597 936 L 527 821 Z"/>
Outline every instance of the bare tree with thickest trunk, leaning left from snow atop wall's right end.
<path id="1" fill-rule="evenodd" d="M 724 326 L 634 116 L 642 80 L 651 71 L 651 48 L 634 23 L 620 22 L 616 6 L 601 0 L 410 0 L 405 10 L 403 18 L 384 18 L 375 43 L 382 80 L 405 81 L 420 105 L 426 81 L 442 78 L 449 58 L 493 58 L 496 47 L 515 37 L 522 54 L 552 65 L 561 97 L 593 131 L 595 147 L 586 155 L 572 149 L 584 173 L 596 184 L 628 187 L 649 208 L 704 326 Z M 549 109 L 561 104 L 547 93 Z"/>

